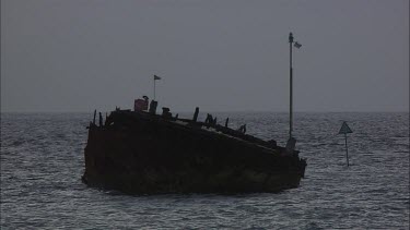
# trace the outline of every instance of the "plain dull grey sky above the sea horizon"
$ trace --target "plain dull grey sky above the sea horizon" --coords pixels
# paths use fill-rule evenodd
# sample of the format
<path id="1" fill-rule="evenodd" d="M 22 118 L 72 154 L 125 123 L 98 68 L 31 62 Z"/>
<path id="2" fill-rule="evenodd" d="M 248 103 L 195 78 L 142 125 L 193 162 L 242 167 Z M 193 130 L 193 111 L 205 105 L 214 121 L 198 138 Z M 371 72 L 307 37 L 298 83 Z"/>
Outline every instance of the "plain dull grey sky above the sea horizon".
<path id="1" fill-rule="evenodd" d="M 1 1 L 1 111 L 408 111 L 409 1 Z"/>

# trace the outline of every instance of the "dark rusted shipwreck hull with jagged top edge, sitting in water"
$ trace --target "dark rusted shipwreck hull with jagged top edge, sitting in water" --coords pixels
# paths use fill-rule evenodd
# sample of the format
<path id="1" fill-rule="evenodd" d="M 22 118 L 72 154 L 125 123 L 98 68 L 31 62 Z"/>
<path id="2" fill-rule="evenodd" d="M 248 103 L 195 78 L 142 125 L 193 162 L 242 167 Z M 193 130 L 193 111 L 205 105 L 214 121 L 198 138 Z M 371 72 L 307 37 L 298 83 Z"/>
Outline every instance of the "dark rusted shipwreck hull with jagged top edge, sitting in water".
<path id="1" fill-rule="evenodd" d="M 198 121 L 198 108 L 181 119 L 154 107 L 116 109 L 105 121 L 99 113 L 98 124 L 94 112 L 84 183 L 128 194 L 254 193 L 297 187 L 304 177 L 306 160 L 292 147 L 231 129 L 229 119 Z"/>

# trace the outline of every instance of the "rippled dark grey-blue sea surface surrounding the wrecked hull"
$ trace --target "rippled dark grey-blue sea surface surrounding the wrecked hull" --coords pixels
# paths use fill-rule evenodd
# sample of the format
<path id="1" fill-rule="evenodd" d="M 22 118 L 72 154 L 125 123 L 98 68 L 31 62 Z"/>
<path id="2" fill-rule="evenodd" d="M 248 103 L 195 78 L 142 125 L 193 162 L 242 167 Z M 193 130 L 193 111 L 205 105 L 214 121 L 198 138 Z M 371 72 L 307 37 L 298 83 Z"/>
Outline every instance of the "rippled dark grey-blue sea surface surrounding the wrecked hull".
<path id="1" fill-rule="evenodd" d="M 285 144 L 286 113 L 214 116 Z M 87 187 L 81 175 L 91 120 L 91 112 L 1 113 L 2 230 L 409 229 L 407 112 L 296 113 L 296 148 L 307 159 L 300 187 L 237 195 L 130 196 Z M 349 168 L 342 121 L 354 132 Z"/>

